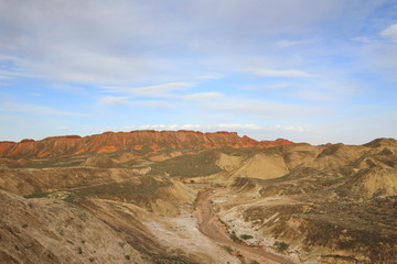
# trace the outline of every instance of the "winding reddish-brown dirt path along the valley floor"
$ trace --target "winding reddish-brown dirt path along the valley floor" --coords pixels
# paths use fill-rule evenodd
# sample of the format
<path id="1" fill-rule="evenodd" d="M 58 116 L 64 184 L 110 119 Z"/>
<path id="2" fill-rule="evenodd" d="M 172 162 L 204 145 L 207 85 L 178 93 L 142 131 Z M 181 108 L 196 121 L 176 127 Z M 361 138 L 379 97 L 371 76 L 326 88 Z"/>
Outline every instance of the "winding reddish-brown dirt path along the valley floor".
<path id="1" fill-rule="evenodd" d="M 215 242 L 236 249 L 240 255 L 250 263 L 282 263 L 293 264 L 292 261 L 282 256 L 271 254 L 259 248 L 236 243 L 228 238 L 222 223 L 215 217 L 215 210 L 211 204 L 211 198 L 227 193 L 226 189 L 208 189 L 198 194 L 195 216 L 197 218 L 198 230 Z"/>

